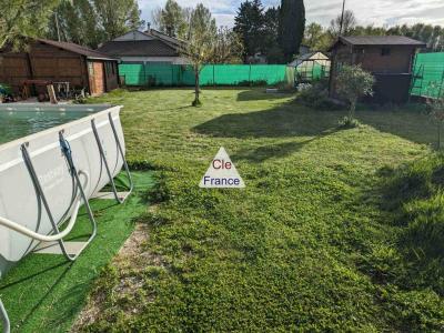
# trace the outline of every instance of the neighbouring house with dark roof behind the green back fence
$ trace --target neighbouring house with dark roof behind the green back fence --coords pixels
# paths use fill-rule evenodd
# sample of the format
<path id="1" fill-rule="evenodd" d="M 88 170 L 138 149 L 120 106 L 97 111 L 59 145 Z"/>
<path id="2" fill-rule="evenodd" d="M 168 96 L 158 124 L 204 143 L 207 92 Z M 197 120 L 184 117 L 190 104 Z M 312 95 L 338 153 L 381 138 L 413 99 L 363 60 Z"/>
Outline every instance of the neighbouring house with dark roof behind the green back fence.
<path id="1" fill-rule="evenodd" d="M 183 41 L 154 29 L 144 32 L 133 30 L 101 44 L 99 52 L 119 58 L 122 63 L 171 63 L 185 64 L 180 48 Z"/>

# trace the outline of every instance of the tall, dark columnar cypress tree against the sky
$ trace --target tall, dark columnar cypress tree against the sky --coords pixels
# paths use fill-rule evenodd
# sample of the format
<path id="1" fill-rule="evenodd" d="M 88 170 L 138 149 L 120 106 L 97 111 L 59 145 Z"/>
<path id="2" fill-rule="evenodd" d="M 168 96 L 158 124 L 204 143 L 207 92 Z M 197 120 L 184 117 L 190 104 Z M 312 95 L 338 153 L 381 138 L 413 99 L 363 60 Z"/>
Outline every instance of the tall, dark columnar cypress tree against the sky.
<path id="1" fill-rule="evenodd" d="M 285 61 L 299 53 L 305 30 L 305 6 L 303 0 L 281 0 L 280 44 Z"/>

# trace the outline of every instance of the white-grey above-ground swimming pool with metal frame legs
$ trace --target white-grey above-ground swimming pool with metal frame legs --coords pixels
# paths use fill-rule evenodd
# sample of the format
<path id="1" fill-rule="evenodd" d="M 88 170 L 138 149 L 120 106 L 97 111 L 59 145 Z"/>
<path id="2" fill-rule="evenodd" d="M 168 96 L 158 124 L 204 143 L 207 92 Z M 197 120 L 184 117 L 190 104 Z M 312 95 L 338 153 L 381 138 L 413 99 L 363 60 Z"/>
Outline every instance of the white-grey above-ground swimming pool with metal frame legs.
<path id="1" fill-rule="evenodd" d="M 72 229 L 81 204 L 90 213 L 90 240 L 95 235 L 88 200 L 109 182 L 113 185 L 123 165 L 131 179 L 120 110 L 0 104 L 0 278 L 41 242 L 58 242 L 74 260 L 59 238 Z M 114 185 L 113 190 L 122 202 Z M 62 224 L 64 230 L 59 231 Z M 8 332 L 1 300 L 0 314 Z"/>

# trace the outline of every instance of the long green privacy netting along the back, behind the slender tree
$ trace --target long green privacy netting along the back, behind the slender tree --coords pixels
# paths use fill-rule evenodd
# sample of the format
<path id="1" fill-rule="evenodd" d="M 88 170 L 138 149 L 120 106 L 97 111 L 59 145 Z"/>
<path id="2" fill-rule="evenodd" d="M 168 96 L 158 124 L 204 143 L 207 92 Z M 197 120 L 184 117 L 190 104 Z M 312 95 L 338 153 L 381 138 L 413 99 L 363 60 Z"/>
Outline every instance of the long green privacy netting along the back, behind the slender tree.
<path id="1" fill-rule="evenodd" d="M 125 85 L 194 85 L 191 65 L 169 63 L 121 63 L 119 74 Z M 206 64 L 200 74 L 201 85 L 293 84 L 294 69 L 284 64 Z"/>

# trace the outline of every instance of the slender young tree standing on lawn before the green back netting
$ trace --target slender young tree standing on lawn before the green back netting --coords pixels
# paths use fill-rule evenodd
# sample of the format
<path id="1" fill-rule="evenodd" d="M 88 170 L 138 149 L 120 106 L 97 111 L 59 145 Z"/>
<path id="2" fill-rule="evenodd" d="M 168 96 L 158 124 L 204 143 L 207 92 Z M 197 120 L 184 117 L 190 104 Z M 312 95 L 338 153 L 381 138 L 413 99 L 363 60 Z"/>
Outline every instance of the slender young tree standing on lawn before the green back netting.
<path id="1" fill-rule="evenodd" d="M 194 101 L 193 107 L 201 105 L 200 101 L 200 72 L 205 63 L 214 60 L 214 50 L 218 39 L 218 28 L 211 12 L 199 3 L 191 12 L 190 31 L 183 53 L 191 62 L 194 70 Z"/>

